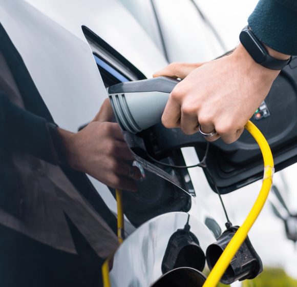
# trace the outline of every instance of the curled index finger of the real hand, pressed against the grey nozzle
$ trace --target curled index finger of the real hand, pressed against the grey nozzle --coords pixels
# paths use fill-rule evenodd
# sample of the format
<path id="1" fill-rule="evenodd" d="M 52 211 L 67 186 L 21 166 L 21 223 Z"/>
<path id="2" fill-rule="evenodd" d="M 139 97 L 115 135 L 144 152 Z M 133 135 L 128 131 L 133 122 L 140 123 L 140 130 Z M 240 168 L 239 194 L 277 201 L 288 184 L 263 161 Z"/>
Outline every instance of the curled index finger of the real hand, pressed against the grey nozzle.
<path id="1" fill-rule="evenodd" d="M 181 106 L 176 100 L 169 96 L 166 107 L 162 115 L 162 124 L 164 127 L 179 128 L 180 127 Z"/>

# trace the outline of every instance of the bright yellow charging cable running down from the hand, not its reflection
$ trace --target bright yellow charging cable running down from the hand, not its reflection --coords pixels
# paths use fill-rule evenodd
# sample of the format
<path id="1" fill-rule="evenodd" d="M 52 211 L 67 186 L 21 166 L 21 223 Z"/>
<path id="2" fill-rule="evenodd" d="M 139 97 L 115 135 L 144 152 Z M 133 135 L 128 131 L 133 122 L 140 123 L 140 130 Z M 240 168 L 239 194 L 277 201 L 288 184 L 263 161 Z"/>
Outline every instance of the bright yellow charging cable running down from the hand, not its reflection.
<path id="1" fill-rule="evenodd" d="M 249 131 L 253 138 L 256 139 L 263 155 L 264 177 L 262 182 L 262 188 L 260 190 L 256 202 L 253 204 L 253 207 L 249 212 L 248 216 L 246 217 L 244 223 L 230 240 L 229 244 L 220 256 L 213 270 L 211 270 L 211 272 L 209 273 L 205 283 L 203 284 L 203 287 L 217 286 L 221 277 L 225 273 L 228 265 L 230 264 L 231 260 L 233 259 L 236 252 L 239 250 L 241 244 L 247 237 L 247 233 L 249 232 L 253 223 L 256 221 L 258 215 L 260 214 L 272 185 L 274 165 L 272 153 L 268 145 L 268 142 L 263 136 L 263 134 L 259 131 L 259 129 L 251 121 L 247 122 L 245 128 L 247 131 Z"/>

